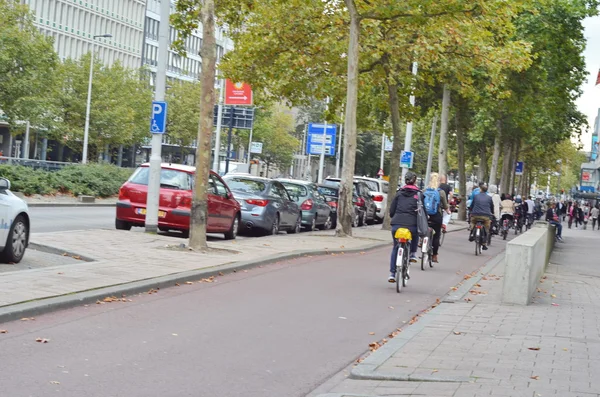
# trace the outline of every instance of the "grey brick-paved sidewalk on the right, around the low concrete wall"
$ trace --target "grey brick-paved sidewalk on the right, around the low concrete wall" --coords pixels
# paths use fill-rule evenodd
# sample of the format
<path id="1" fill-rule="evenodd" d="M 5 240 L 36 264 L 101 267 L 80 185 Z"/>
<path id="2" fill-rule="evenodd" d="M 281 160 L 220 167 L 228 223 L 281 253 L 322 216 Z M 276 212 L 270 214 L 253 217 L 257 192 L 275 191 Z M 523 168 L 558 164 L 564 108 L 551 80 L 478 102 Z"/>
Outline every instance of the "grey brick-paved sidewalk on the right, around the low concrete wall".
<path id="1" fill-rule="evenodd" d="M 498 261 L 320 397 L 600 396 L 600 232 L 563 236 L 532 305 L 500 303 Z"/>

